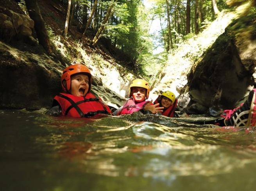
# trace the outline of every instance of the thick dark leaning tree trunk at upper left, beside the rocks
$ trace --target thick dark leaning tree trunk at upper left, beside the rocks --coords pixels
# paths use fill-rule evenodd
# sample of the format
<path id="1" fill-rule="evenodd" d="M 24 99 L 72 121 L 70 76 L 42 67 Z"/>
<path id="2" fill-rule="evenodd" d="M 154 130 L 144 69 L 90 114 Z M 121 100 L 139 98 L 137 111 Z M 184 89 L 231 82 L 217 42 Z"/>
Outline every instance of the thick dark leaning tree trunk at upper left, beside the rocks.
<path id="1" fill-rule="evenodd" d="M 45 28 L 45 21 L 41 16 L 40 9 L 36 0 L 25 0 L 29 16 L 35 22 L 35 31 L 38 37 L 38 42 L 43 46 L 47 53 L 51 53 L 50 39 Z"/>

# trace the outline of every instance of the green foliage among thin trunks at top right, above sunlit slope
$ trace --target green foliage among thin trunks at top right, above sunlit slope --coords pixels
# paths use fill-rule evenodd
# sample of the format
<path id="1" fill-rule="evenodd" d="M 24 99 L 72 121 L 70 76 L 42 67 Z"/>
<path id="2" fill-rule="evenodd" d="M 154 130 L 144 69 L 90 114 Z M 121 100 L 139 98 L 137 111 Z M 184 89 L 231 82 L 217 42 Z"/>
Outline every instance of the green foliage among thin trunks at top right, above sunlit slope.
<path id="1" fill-rule="evenodd" d="M 161 43 L 167 49 L 168 39 L 170 39 L 169 44 L 172 44 L 173 48 L 177 48 L 179 43 L 183 40 L 188 39 L 190 36 L 193 36 L 192 33 L 195 33 L 195 0 L 190 2 L 190 31 L 191 35 L 186 35 L 186 7 L 187 1 L 180 0 L 154 0 L 155 6 L 152 8 L 152 18 L 161 19 L 161 34 L 162 39 Z M 197 0 L 198 7 L 200 10 L 201 18 L 197 18 L 199 23 L 199 30 L 202 31 L 216 18 L 213 13 L 212 2 L 211 0 Z M 217 0 L 217 7 L 219 11 L 227 9 L 226 0 Z M 170 9 L 170 30 L 167 28 L 168 23 L 168 12 L 167 5 Z M 200 32 L 199 31 L 199 32 Z"/>

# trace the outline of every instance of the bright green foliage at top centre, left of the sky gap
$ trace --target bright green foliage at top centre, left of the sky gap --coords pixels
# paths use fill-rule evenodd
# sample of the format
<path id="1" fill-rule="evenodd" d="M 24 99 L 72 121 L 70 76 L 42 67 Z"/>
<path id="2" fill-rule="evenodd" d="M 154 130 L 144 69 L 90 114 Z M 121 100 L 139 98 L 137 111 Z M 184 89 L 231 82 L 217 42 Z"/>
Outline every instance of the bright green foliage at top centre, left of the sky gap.
<path id="1" fill-rule="evenodd" d="M 152 55 L 148 30 L 149 17 L 141 1 L 123 0 L 116 5 L 113 18 L 104 32 L 116 48 L 129 55 L 129 59 L 134 61 L 135 71 L 142 75 L 146 75 L 143 67 L 150 64 Z"/>

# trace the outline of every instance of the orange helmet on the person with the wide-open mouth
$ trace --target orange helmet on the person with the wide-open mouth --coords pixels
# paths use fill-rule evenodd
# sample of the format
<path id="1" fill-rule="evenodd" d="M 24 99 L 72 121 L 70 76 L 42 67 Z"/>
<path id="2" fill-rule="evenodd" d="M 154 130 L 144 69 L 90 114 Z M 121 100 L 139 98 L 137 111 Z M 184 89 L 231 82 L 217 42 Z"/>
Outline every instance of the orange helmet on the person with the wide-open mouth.
<path id="1" fill-rule="evenodd" d="M 61 86 L 65 92 L 69 92 L 71 90 L 71 76 L 79 73 L 85 73 L 89 78 L 89 89 L 91 90 L 91 72 L 85 65 L 82 64 L 74 64 L 66 67 L 61 76 Z"/>

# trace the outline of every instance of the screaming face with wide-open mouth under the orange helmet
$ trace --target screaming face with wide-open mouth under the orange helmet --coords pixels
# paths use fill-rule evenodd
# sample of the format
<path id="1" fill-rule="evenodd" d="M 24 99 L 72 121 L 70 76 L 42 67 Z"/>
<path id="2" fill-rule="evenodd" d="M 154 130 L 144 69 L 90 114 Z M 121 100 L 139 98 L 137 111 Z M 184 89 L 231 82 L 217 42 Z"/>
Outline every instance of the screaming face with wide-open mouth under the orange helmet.
<path id="1" fill-rule="evenodd" d="M 89 89 L 89 78 L 85 74 L 76 74 L 71 77 L 71 94 L 85 96 Z"/>

